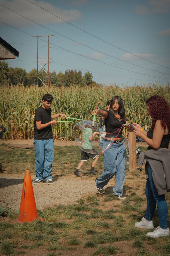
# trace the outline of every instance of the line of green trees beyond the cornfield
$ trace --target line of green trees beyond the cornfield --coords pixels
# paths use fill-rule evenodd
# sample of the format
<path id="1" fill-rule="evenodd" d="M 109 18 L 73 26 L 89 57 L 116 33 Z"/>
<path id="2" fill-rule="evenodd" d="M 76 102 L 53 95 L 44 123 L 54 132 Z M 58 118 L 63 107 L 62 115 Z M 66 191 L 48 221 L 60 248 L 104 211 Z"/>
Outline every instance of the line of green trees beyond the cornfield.
<path id="1" fill-rule="evenodd" d="M 48 83 L 48 75 L 44 70 L 41 70 L 38 74 L 38 86 L 42 86 L 43 83 Z M 51 85 L 57 86 L 70 86 L 71 84 L 84 85 L 96 85 L 95 81 L 92 81 L 93 75 L 91 72 L 86 72 L 84 76 L 80 70 L 65 70 L 65 74 L 61 71 L 56 74 L 55 71 L 49 72 L 49 81 Z M 0 85 L 35 85 L 37 84 L 37 69 L 33 68 L 30 72 L 26 72 L 25 69 L 20 67 L 8 67 L 8 62 L 0 61 Z"/>

